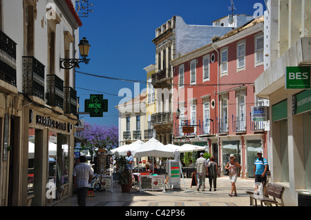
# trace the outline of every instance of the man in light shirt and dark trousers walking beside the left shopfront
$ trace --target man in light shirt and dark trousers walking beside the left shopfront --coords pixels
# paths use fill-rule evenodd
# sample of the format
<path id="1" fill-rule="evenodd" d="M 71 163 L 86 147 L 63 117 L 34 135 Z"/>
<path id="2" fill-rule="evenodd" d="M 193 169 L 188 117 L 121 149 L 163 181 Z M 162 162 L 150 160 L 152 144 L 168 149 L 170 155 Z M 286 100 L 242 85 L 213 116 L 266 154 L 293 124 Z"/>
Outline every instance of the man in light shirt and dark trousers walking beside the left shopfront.
<path id="1" fill-rule="evenodd" d="M 91 183 L 93 171 L 86 163 L 86 157 L 79 158 L 79 164 L 73 169 L 73 187 L 77 190 L 77 203 L 86 206 L 88 196 L 88 184 Z"/>

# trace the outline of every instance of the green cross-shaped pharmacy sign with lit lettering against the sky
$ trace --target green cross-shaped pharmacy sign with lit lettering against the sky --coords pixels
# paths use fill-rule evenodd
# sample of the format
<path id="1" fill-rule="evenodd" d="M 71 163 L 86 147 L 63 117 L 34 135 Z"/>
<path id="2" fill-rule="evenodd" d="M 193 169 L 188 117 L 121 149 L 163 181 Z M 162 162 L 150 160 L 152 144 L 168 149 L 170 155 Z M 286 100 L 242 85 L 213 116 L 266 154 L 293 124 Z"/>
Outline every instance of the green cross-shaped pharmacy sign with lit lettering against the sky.
<path id="1" fill-rule="evenodd" d="M 91 117 L 102 117 L 103 112 L 108 112 L 108 99 L 103 99 L 102 94 L 90 94 L 90 99 L 84 101 L 84 111 Z"/>

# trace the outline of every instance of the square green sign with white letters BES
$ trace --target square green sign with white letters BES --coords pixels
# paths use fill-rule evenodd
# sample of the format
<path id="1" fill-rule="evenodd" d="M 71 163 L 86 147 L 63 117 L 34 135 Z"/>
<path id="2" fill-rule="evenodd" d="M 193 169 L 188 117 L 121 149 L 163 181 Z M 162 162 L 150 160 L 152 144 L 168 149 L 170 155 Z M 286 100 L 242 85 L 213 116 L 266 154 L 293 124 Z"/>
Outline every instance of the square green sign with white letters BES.
<path id="1" fill-rule="evenodd" d="M 310 66 L 288 66 L 286 68 L 285 89 L 311 88 L 310 84 Z"/>

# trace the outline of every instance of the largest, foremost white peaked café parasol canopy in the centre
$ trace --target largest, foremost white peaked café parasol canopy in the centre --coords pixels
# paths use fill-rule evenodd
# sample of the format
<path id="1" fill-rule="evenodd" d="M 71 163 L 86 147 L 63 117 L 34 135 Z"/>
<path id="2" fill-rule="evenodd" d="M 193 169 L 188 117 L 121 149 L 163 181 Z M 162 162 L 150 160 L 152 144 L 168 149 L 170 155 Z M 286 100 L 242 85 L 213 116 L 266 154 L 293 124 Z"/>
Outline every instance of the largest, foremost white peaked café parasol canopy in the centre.
<path id="1" fill-rule="evenodd" d="M 136 148 L 133 157 L 174 157 L 174 152 L 175 150 L 164 146 L 163 143 L 153 137 Z"/>

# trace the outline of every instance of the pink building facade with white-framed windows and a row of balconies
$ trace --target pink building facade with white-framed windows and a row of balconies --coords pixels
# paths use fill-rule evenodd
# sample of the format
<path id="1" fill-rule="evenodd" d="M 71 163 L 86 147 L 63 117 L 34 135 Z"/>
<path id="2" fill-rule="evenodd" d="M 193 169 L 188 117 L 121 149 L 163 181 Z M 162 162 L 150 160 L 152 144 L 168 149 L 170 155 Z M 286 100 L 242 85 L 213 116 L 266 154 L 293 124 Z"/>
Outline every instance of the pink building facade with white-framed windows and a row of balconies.
<path id="1" fill-rule="evenodd" d="M 253 177 L 256 152 L 267 158 L 266 121 L 252 121 L 254 81 L 263 72 L 263 18 L 254 19 L 214 43 L 171 61 L 174 143 L 207 146 L 222 173 L 234 154 L 242 177 Z M 183 127 L 193 130 L 182 132 Z M 188 128 L 189 129 L 189 128 Z"/>

